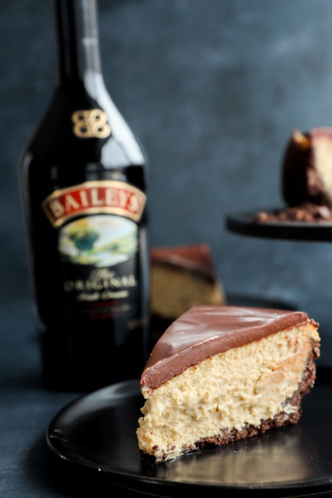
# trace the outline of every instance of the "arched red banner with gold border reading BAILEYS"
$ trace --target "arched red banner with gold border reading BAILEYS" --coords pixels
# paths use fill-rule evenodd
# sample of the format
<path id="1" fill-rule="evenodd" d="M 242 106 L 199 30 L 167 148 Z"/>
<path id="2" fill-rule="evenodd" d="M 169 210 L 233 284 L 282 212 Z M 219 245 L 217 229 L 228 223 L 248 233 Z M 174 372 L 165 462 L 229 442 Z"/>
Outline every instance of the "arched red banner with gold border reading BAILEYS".
<path id="1" fill-rule="evenodd" d="M 60 226 L 68 218 L 82 213 L 117 214 L 139 221 L 145 201 L 145 194 L 136 187 L 103 180 L 55 190 L 43 201 L 42 207 L 52 225 Z"/>

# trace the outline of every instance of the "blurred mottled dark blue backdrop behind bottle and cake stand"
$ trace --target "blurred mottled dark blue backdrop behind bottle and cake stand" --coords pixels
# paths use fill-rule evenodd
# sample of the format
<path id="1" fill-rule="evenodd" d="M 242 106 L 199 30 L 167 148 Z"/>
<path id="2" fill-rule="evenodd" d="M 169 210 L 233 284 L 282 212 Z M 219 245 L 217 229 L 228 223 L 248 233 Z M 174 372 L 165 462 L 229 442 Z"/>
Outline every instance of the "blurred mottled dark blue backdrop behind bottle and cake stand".
<path id="1" fill-rule="evenodd" d="M 149 157 L 151 244 L 210 243 L 226 293 L 307 311 L 330 365 L 331 244 L 237 235 L 225 216 L 282 204 L 290 133 L 332 125 L 332 2 L 100 0 L 99 21 L 108 90 Z M 17 167 L 54 82 L 49 1 L 0 0 L 0 67 L 1 376 L 20 389 L 39 371 Z M 45 424 L 64 398 L 47 402 Z"/>

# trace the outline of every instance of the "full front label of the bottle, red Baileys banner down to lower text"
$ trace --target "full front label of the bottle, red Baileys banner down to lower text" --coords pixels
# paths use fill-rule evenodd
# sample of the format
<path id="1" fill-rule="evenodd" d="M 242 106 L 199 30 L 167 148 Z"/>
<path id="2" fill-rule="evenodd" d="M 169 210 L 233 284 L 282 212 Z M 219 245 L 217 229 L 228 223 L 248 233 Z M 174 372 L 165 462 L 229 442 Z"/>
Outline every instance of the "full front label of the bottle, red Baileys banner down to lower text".
<path id="1" fill-rule="evenodd" d="M 137 221 L 144 203 L 143 192 L 117 181 L 57 190 L 43 202 L 58 228 L 62 290 L 72 319 L 140 315 Z"/>

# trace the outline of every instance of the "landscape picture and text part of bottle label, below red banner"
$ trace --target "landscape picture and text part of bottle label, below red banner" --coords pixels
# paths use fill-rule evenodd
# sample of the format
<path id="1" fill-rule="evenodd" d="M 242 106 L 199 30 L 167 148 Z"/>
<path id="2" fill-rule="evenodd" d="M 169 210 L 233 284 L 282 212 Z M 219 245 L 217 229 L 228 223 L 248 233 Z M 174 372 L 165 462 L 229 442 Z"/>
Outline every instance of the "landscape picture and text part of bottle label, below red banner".
<path id="1" fill-rule="evenodd" d="M 138 286 L 134 221 L 103 214 L 71 221 L 59 230 L 58 250 L 71 310 L 94 319 L 130 311 Z"/>

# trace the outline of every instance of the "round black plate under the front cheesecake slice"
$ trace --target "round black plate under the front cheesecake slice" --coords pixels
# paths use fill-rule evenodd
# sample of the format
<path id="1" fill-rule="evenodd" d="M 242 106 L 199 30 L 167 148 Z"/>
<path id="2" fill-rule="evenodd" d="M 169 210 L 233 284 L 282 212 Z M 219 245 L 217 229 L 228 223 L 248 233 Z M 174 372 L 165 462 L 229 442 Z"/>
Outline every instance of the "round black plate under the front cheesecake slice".
<path id="1" fill-rule="evenodd" d="M 154 496 L 192 491 L 220 496 L 308 496 L 332 490 L 332 398 L 319 382 L 303 400 L 296 426 L 261 437 L 146 465 L 137 449 L 136 428 L 143 397 L 138 380 L 82 396 L 50 423 L 47 444 L 60 458 L 112 474 L 115 482 Z"/>

